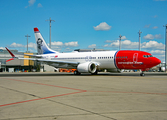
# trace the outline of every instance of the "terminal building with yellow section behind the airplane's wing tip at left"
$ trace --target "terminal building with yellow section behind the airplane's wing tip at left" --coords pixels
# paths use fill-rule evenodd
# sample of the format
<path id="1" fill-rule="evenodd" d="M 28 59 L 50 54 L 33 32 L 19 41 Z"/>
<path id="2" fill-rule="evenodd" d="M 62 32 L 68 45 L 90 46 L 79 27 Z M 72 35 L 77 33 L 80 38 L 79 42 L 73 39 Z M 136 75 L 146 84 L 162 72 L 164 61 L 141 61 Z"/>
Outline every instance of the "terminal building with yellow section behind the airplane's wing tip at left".
<path id="1" fill-rule="evenodd" d="M 18 50 L 11 50 L 11 52 L 15 54 L 16 57 L 24 58 L 29 58 L 29 56 L 25 56 L 25 54 L 36 54 L 18 52 Z M 38 63 L 32 60 L 9 59 L 11 59 L 11 55 L 8 51 L 6 49 L 0 49 L 0 72 L 26 72 L 33 71 L 34 69 L 38 70 Z"/>

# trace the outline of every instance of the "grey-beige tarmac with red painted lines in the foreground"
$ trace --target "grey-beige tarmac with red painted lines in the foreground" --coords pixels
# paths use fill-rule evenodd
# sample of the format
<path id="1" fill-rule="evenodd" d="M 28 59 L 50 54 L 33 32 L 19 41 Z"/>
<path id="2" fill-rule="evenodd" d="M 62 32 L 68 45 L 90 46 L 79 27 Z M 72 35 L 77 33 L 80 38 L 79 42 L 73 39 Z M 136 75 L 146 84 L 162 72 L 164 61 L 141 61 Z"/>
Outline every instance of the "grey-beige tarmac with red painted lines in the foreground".
<path id="1" fill-rule="evenodd" d="M 0 120 L 167 120 L 167 73 L 0 73 Z"/>

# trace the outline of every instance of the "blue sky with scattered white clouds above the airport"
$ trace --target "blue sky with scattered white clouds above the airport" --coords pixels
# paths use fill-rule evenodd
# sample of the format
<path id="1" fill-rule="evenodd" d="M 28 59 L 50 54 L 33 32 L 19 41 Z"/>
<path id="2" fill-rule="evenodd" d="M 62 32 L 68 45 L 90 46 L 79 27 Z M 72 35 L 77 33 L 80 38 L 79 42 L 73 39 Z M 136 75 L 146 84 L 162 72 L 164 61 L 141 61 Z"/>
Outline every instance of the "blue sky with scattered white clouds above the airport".
<path id="1" fill-rule="evenodd" d="M 34 27 L 49 43 L 52 22 L 52 49 L 141 50 L 164 61 L 167 0 L 4 0 L 0 1 L 0 48 L 36 52 Z"/>

